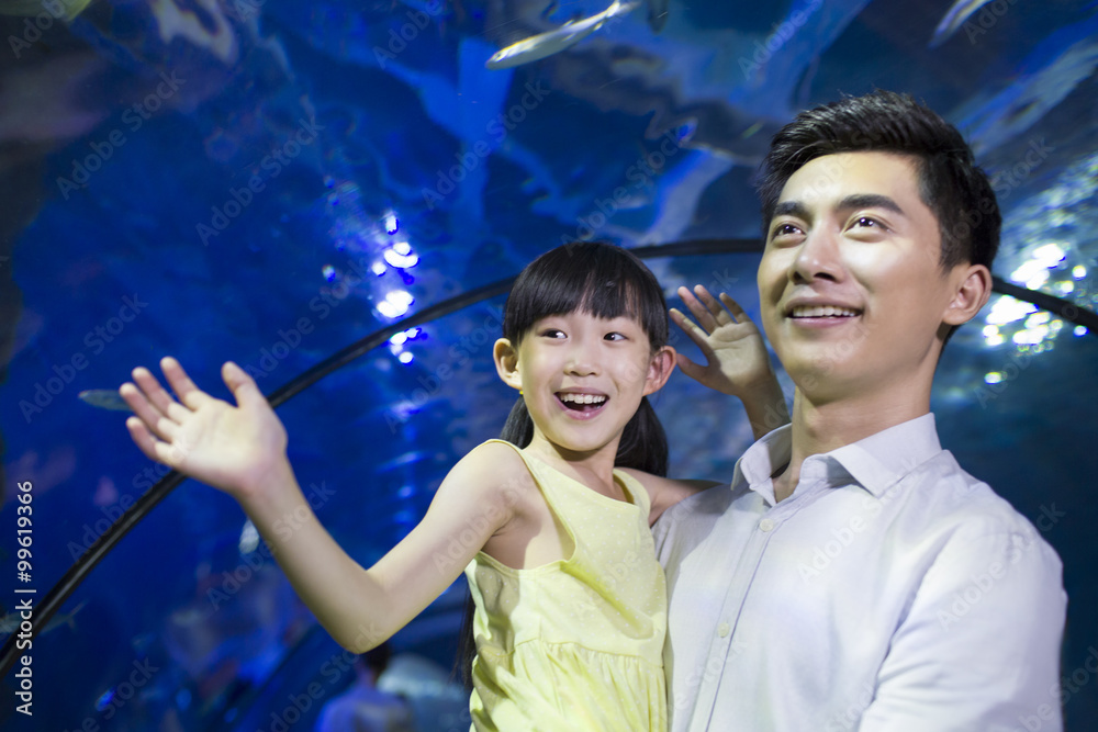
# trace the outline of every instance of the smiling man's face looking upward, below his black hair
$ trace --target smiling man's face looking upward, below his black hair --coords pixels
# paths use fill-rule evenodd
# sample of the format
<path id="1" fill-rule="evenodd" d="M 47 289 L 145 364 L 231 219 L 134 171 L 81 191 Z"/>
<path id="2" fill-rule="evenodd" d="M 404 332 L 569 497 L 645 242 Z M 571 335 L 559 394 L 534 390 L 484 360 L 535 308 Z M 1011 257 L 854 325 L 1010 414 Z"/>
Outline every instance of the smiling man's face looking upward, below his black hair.
<path id="1" fill-rule="evenodd" d="M 887 153 L 811 160 L 778 196 L 759 264 L 763 326 L 816 398 L 929 388 L 952 300 L 916 161 Z"/>

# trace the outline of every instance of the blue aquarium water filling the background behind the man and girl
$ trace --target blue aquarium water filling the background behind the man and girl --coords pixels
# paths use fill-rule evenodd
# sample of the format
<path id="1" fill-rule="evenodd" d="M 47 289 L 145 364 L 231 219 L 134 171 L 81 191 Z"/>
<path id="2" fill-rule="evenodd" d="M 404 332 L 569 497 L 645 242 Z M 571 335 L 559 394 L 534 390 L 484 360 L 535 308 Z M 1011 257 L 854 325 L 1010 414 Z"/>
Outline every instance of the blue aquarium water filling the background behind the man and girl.
<path id="1" fill-rule="evenodd" d="M 271 392 L 562 240 L 755 237 L 750 180 L 770 136 L 841 93 L 908 91 L 966 131 L 1005 213 L 996 274 L 1098 306 L 1093 3 L 988 3 L 937 48 L 945 2 L 748 4 L 672 2 L 658 35 L 641 10 L 507 71 L 483 61 L 603 7 L 98 0 L 37 33 L 0 18 L 4 611 L 16 587 L 41 600 L 161 475 L 124 415 L 80 391 L 171 353 L 219 396 L 228 359 Z M 757 262 L 650 266 L 669 294 L 702 282 L 754 314 Z M 945 350 L 932 406 L 945 447 L 1064 560 L 1064 711 L 1082 732 L 1098 719 L 1084 665 L 1098 646 L 1098 339 L 998 300 Z M 513 399 L 490 359 L 501 304 L 424 324 L 280 407 L 299 481 L 359 561 L 497 433 Z M 656 404 L 673 474 L 731 474 L 750 443 L 737 404 L 681 375 Z M 20 583 L 25 482 L 33 570 Z M 68 622 L 34 640 L 33 719 L 15 711 L 20 679 L 3 679 L 0 727 L 310 729 L 348 677 L 322 671 L 338 649 L 251 545 L 234 502 L 183 483 L 76 588 Z M 408 665 L 390 683 L 423 729 L 468 725 L 445 684 L 462 593 L 393 640 Z M 294 707 L 313 682 L 322 698 Z"/>

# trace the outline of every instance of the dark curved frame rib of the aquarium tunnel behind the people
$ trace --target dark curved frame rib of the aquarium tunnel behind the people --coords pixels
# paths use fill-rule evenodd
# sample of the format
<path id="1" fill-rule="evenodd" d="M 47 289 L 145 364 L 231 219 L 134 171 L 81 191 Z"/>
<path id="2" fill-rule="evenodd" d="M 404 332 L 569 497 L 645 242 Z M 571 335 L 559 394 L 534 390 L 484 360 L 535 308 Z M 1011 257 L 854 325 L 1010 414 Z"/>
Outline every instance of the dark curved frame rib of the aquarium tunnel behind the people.
<path id="1" fill-rule="evenodd" d="M 630 251 L 642 259 L 657 257 L 683 257 L 690 255 L 727 255 L 762 251 L 761 239 L 701 239 L 693 241 L 675 241 L 664 245 L 637 247 Z M 470 290 L 463 294 L 442 301 L 415 313 L 406 318 L 390 324 L 369 336 L 333 353 L 313 368 L 291 379 L 288 383 L 274 390 L 267 397 L 272 408 L 309 388 L 321 379 L 355 361 L 359 357 L 388 341 L 392 336 L 411 327 L 423 325 L 463 307 L 501 295 L 511 289 L 517 278 L 512 275 L 496 282 Z M 993 277 L 993 292 L 1022 300 L 1038 307 L 1052 312 L 1057 317 L 1076 325 L 1084 326 L 1088 333 L 1098 336 L 1098 314 L 1075 303 L 1050 295 L 1044 292 L 1029 290 L 998 277 Z M 45 628 L 51 618 L 61 608 L 65 601 L 76 592 L 91 571 L 109 554 L 114 547 L 130 532 L 149 511 L 156 507 L 171 491 L 187 478 L 182 473 L 171 471 L 156 485 L 145 492 L 133 506 L 119 517 L 111 527 L 77 559 L 65 575 L 51 588 L 49 593 L 35 608 L 31 620 L 31 638 Z M 16 633 L 12 633 L 0 651 L 0 675 L 5 675 L 15 664 L 19 656 L 16 650 Z"/>

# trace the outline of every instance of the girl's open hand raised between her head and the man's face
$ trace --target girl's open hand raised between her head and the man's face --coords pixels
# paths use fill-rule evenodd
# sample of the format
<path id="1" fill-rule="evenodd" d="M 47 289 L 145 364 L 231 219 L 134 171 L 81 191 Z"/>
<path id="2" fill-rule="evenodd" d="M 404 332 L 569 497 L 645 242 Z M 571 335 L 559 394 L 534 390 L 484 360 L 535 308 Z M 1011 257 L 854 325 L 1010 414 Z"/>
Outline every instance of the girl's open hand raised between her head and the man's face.
<path id="1" fill-rule="evenodd" d="M 679 288 L 679 296 L 697 324 L 675 308 L 671 308 L 671 319 L 697 344 L 706 359 L 702 365 L 679 353 L 679 368 L 687 376 L 744 401 L 760 384 L 774 382 L 762 334 L 739 303 L 724 292 L 718 302 L 699 284 L 693 293 Z"/>

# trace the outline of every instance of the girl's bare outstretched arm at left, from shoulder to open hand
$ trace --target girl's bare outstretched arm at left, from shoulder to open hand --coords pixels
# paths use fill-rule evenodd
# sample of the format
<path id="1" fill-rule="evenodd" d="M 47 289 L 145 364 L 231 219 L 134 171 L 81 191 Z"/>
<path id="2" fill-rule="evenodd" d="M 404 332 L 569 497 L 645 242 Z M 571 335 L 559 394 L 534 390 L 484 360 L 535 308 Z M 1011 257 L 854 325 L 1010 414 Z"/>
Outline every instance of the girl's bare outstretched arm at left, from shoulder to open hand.
<path id="1" fill-rule="evenodd" d="M 126 427 L 147 457 L 233 495 L 271 547 L 302 600 L 335 640 L 369 650 L 427 607 L 464 570 L 518 504 L 528 473 L 514 450 L 483 444 L 446 476 L 423 521 L 370 570 L 317 521 L 285 455 L 285 429 L 255 381 L 226 363 L 236 406 L 199 390 L 161 361 L 177 402 L 146 369 L 120 392 Z"/>

